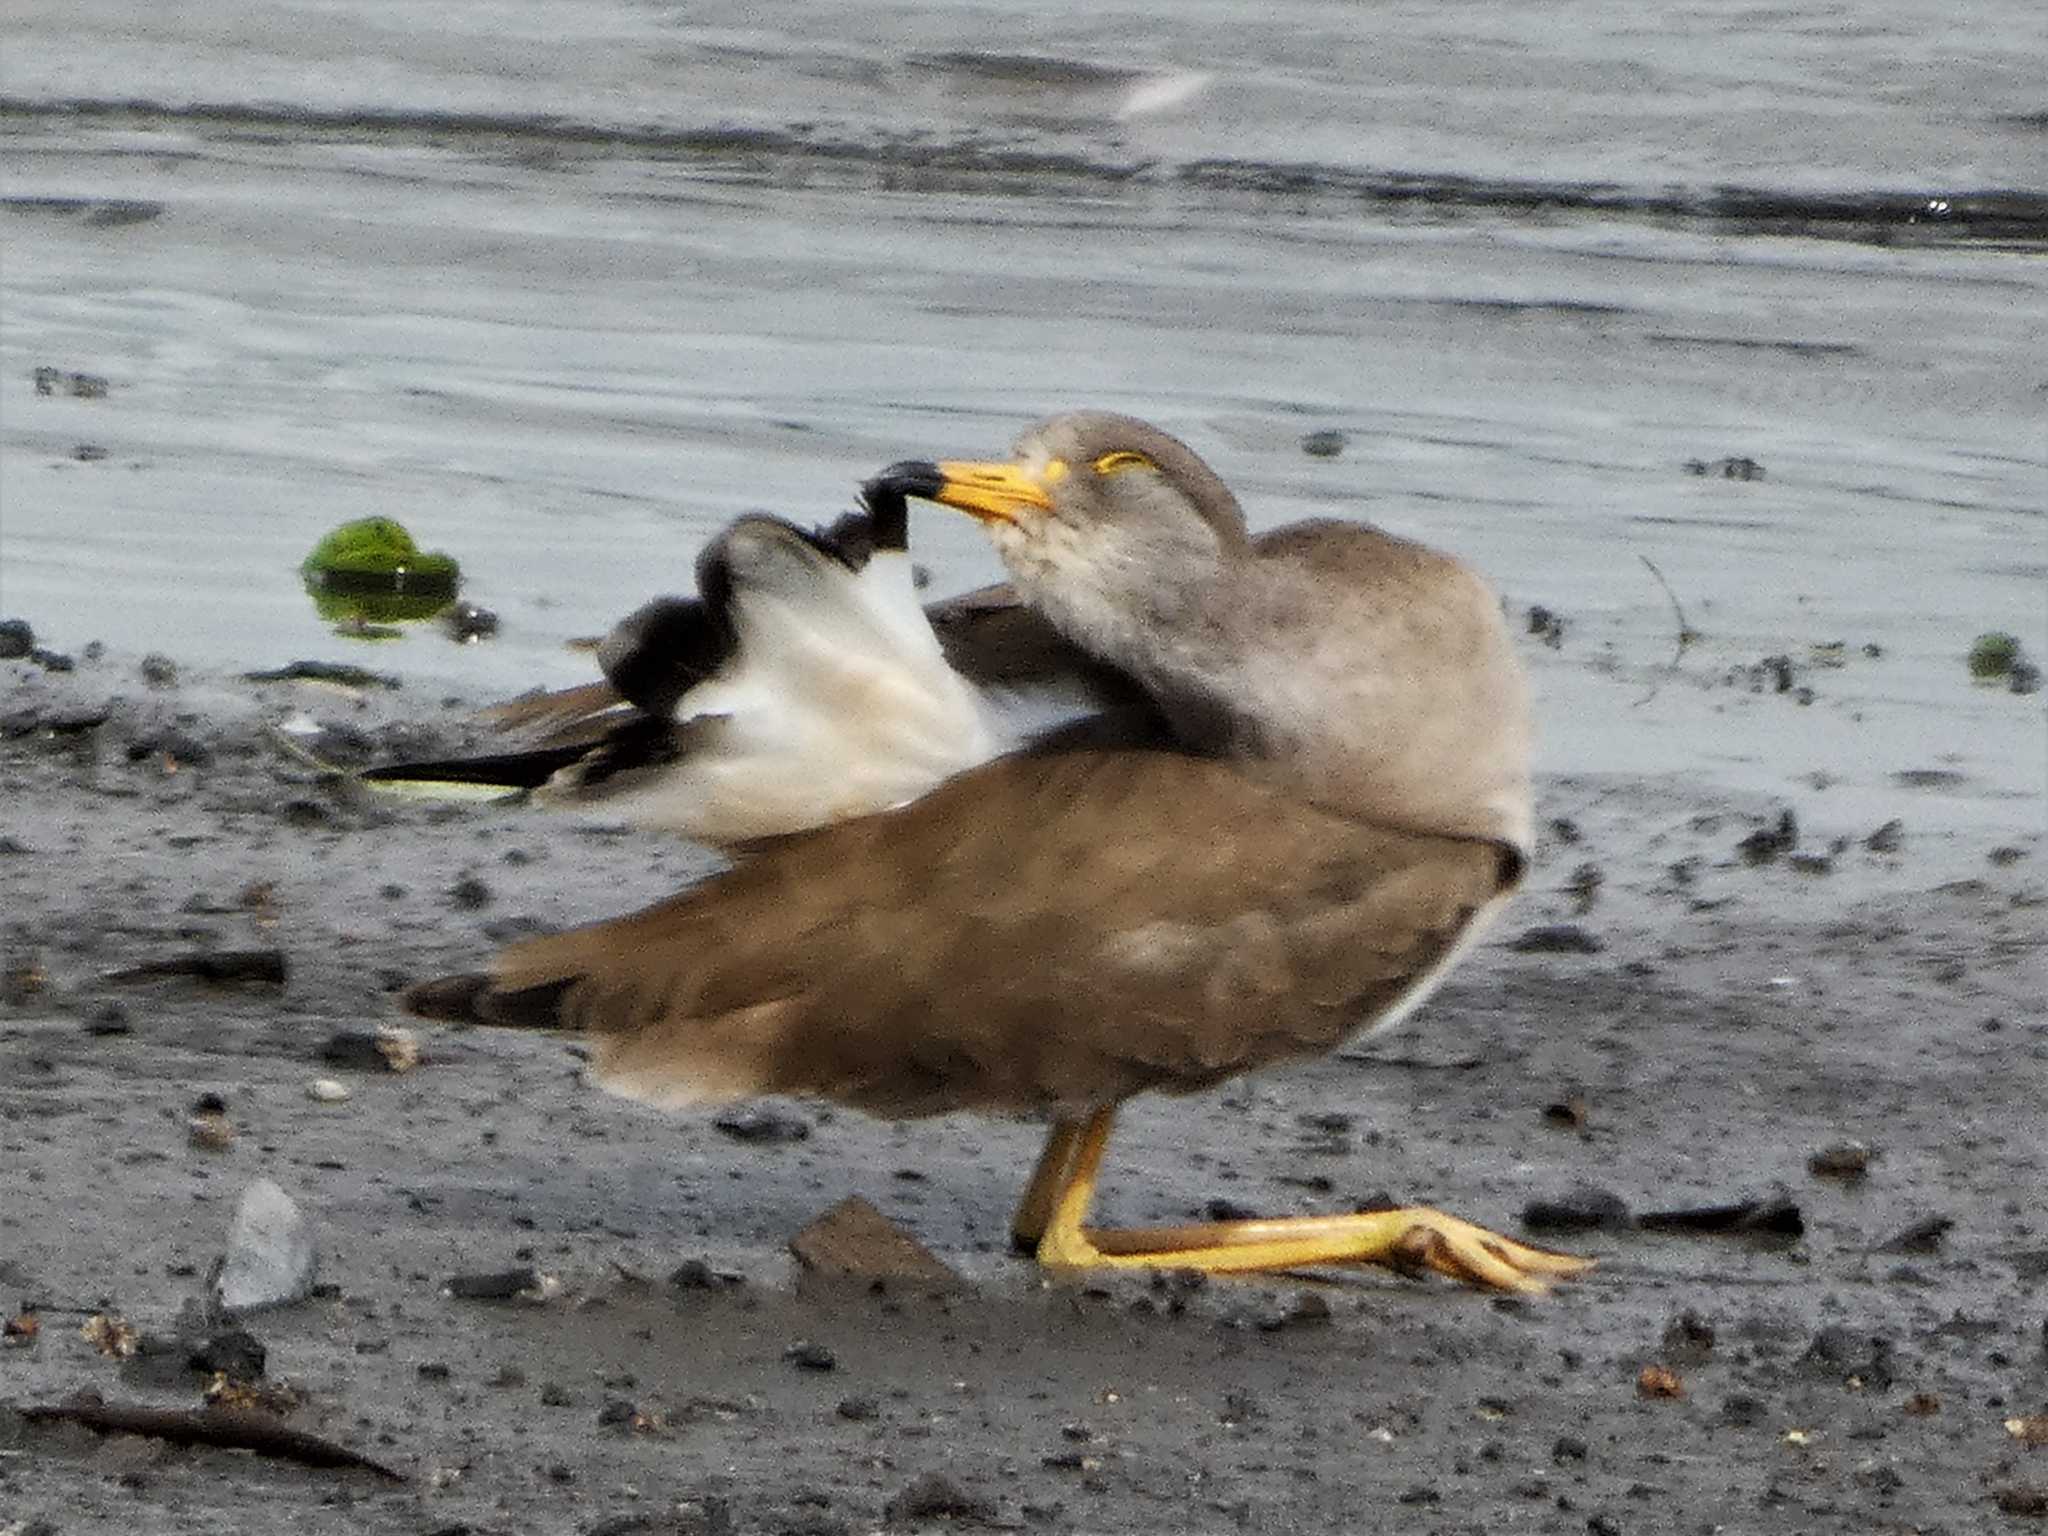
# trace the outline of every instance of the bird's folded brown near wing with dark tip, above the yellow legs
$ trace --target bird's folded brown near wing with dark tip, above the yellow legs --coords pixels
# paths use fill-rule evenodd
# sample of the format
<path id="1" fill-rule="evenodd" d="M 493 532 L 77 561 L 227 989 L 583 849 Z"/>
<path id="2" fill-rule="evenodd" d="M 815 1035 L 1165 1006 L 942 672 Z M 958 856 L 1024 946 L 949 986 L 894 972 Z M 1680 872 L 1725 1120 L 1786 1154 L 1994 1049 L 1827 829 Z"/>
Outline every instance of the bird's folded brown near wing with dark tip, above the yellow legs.
<path id="1" fill-rule="evenodd" d="M 1425 981 L 1509 868 L 1214 760 L 1018 754 L 416 1006 L 584 1030 L 606 1087 L 672 1106 L 1094 1106 L 1327 1051 Z"/>

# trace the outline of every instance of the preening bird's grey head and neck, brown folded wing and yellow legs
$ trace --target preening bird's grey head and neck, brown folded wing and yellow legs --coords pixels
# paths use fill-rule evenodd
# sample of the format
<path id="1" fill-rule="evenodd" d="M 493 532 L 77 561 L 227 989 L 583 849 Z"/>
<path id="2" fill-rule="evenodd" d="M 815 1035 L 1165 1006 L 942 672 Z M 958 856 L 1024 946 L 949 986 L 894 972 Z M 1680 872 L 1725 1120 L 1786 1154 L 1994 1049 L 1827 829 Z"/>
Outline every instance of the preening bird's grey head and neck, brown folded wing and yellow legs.
<path id="1" fill-rule="evenodd" d="M 1135 680 L 1157 721 L 776 840 L 414 1004 L 580 1030 L 598 1081 L 666 1106 L 1049 1112 L 1018 1217 L 1042 1257 L 1266 1268 L 1268 1239 L 1237 1229 L 1083 1231 L 1108 1114 L 1393 1022 L 1495 913 L 1530 827 L 1499 606 L 1456 561 L 1372 528 L 1253 541 L 1200 459 L 1126 418 L 1055 418 L 1014 465 L 883 479 L 983 518 L 1022 600 Z M 1405 1231 L 1264 1257 L 1376 1260 Z M 1493 1284 L 1575 1268 L 1423 1257 Z"/>

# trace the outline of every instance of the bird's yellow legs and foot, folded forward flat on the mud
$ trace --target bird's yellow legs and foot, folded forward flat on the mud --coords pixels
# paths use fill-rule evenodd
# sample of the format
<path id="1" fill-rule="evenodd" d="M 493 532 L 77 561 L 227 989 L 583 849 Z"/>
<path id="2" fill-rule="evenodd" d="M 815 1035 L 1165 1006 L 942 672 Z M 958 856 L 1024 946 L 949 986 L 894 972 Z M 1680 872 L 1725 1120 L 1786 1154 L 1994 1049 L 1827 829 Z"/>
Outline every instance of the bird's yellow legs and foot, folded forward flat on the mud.
<path id="1" fill-rule="evenodd" d="M 1591 1260 L 1530 1247 L 1511 1237 L 1446 1217 L 1430 1206 L 1368 1210 L 1350 1217 L 1274 1217 L 1210 1221 L 1190 1227 L 1087 1227 L 1096 1176 L 1110 1143 L 1114 1110 L 1100 1110 L 1073 1128 L 1065 1186 L 1038 1239 L 1038 1262 L 1053 1270 L 1206 1270 L 1247 1274 L 1307 1270 L 1331 1264 L 1386 1264 L 1436 1270 L 1489 1290 L 1546 1290 L 1550 1280 L 1591 1268 Z M 1055 1137 L 1067 1126 L 1055 1128 Z M 1038 1159 L 1026 1204 L 1047 1176 L 1053 1145 Z M 1047 1176 L 1051 1180 L 1051 1176 Z M 1018 1212 L 1022 1219 L 1022 1210 Z"/>

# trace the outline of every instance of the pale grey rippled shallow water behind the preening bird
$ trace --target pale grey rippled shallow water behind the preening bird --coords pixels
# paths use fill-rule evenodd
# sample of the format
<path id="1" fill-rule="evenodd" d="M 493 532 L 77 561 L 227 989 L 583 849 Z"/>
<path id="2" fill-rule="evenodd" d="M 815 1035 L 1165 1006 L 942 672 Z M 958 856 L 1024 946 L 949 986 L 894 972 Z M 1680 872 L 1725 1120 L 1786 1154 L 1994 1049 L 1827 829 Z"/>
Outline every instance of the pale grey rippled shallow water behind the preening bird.
<path id="1" fill-rule="evenodd" d="M 8 12 L 0 606 L 51 645 L 575 682 L 735 512 L 1094 403 L 1561 610 L 1552 770 L 2040 823 L 2040 696 L 1962 672 L 2048 653 L 2038 6 L 188 12 Z M 295 567 L 369 514 L 504 637 L 330 635 Z M 1810 709 L 1720 686 L 1827 641 Z"/>

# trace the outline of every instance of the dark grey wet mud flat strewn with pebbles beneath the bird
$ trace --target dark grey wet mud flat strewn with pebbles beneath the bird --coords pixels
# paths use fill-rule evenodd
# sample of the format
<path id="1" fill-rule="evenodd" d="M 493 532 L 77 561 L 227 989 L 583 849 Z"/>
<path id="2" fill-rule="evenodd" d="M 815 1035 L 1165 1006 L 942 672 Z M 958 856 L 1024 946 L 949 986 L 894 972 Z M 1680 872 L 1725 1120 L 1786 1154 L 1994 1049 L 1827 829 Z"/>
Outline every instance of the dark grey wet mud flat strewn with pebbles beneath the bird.
<path id="1" fill-rule="evenodd" d="M 1577 662 L 1530 647 L 1563 690 Z M 1128 1223 L 1393 1194 L 1520 1231 L 1565 1202 L 1595 1225 L 1540 1241 L 1595 1253 L 1587 1280 L 1047 1286 L 1004 1251 L 1034 1126 L 774 1104 L 719 1128 L 596 1094 L 573 1042 L 489 1032 L 420 1030 L 401 1073 L 336 1055 L 408 979 L 711 868 L 602 821 L 369 799 L 281 745 L 459 745 L 481 698 L 125 651 L 0 668 L 20 1530 L 2038 1524 L 2048 854 L 1964 772 L 1884 764 L 1792 825 L 1704 774 L 1552 774 L 1532 889 L 1427 1010 L 1135 1104 L 1104 1186 Z M 270 958 L 195 961 L 223 954 Z M 199 1407 L 219 1325 L 190 1309 L 256 1178 L 311 1221 L 319 1288 L 242 1319 L 262 1362 L 229 1374 L 397 1477 L 27 1419 L 80 1391 Z M 1614 1221 L 1774 1192 L 1798 1233 Z M 786 1241 L 850 1194 L 958 1284 L 799 1272 Z M 451 1294 L 502 1272 L 532 1294 Z M 94 1317 L 156 1343 L 102 1354 Z"/>

